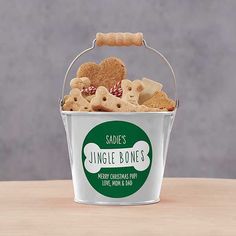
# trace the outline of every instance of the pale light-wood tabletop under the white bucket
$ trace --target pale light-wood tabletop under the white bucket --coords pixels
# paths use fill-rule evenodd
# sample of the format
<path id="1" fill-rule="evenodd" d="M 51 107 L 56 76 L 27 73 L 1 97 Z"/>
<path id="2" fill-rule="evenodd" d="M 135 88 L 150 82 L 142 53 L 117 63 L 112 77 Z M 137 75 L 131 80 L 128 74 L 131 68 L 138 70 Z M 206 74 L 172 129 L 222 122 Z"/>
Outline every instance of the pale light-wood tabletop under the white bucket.
<path id="1" fill-rule="evenodd" d="M 73 202 L 69 180 L 0 182 L 0 235 L 236 235 L 236 180 L 165 179 L 161 202 Z"/>

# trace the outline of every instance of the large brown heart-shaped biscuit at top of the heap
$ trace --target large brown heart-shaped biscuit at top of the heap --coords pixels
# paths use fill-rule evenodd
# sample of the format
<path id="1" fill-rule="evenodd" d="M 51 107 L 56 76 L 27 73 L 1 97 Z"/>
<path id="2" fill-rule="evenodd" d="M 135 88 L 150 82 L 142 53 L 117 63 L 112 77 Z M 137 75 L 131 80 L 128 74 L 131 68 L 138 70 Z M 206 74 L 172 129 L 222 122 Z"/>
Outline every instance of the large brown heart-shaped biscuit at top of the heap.
<path id="1" fill-rule="evenodd" d="M 88 77 L 92 86 L 104 86 L 110 89 L 114 84 L 125 79 L 126 68 L 119 58 L 108 57 L 100 64 L 94 62 L 82 64 L 77 71 L 77 77 Z"/>

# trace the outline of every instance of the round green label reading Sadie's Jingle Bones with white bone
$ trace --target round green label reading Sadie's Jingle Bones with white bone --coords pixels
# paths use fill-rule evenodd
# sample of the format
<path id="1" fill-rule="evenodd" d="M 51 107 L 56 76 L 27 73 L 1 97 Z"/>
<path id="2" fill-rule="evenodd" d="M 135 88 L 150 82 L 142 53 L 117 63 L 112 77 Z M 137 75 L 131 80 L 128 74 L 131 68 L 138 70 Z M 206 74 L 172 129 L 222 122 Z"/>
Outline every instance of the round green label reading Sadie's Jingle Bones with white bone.
<path id="1" fill-rule="evenodd" d="M 96 191 L 121 198 L 137 192 L 152 164 L 152 146 L 137 125 L 109 121 L 94 127 L 82 148 L 85 175 Z"/>

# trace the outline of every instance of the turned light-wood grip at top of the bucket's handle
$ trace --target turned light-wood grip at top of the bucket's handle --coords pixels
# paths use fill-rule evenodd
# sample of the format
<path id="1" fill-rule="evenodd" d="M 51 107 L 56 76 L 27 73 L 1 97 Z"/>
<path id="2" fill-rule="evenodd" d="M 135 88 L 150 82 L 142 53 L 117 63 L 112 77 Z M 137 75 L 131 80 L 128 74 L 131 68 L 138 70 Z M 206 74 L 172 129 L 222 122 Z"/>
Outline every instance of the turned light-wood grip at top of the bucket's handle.
<path id="1" fill-rule="evenodd" d="M 142 46 L 142 33 L 97 33 L 97 46 Z"/>

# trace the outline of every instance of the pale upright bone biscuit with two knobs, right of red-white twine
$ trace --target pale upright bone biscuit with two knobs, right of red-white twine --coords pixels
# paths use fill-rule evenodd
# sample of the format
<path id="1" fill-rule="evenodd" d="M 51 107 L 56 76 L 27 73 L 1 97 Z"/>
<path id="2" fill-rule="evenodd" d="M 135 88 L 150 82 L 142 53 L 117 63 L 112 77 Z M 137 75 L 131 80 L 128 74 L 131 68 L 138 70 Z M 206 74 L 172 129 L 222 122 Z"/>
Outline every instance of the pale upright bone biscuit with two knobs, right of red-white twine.
<path id="1" fill-rule="evenodd" d="M 139 105 L 139 95 L 143 91 L 143 83 L 140 80 L 122 80 L 121 82 L 121 88 L 123 90 L 121 99 L 132 103 L 134 105 Z"/>

